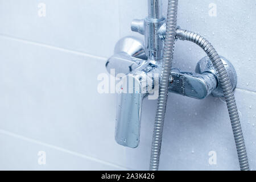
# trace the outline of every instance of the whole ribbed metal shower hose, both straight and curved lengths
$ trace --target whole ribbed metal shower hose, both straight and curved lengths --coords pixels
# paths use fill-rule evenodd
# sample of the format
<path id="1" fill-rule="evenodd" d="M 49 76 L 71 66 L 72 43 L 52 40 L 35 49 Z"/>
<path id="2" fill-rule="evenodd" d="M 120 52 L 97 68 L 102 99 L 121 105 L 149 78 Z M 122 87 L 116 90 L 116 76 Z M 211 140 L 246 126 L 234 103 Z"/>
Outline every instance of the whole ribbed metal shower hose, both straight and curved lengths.
<path id="1" fill-rule="evenodd" d="M 154 133 L 151 146 L 150 170 L 156 171 L 159 168 L 160 149 L 163 135 L 164 115 L 166 113 L 166 102 L 168 97 L 168 84 L 170 78 L 170 70 L 172 66 L 173 50 L 175 38 L 180 40 L 188 40 L 200 46 L 209 59 L 212 61 L 214 68 L 218 72 L 218 80 L 224 92 L 226 105 L 229 111 L 229 118 L 233 129 L 234 140 L 236 142 L 237 155 L 242 171 L 249 171 L 249 163 L 246 154 L 245 141 L 243 139 L 240 118 L 238 115 L 234 92 L 229 80 L 228 73 L 222 63 L 217 51 L 212 44 L 203 36 L 180 28 L 176 29 L 177 22 L 177 0 L 168 1 L 167 26 L 164 42 L 164 56 L 162 71 L 159 84 L 158 107 L 156 110 Z"/>

